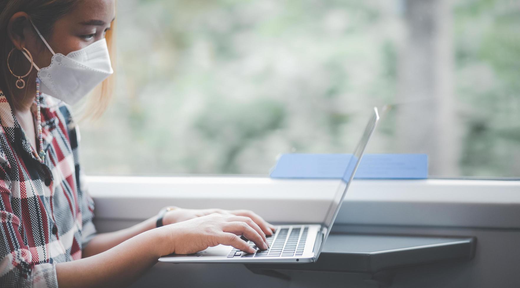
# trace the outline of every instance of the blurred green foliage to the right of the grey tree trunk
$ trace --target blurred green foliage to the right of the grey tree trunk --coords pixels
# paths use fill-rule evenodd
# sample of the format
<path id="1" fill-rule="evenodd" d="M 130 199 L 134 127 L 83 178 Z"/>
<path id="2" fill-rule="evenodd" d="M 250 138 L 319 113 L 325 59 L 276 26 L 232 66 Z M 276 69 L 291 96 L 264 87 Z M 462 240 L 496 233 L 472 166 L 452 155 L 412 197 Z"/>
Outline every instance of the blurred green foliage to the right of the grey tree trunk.
<path id="1" fill-rule="evenodd" d="M 454 8 L 457 92 L 464 107 L 463 175 L 518 176 L 520 5 L 461 1 Z"/>

